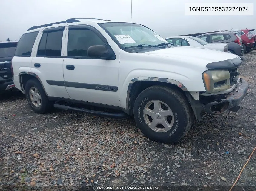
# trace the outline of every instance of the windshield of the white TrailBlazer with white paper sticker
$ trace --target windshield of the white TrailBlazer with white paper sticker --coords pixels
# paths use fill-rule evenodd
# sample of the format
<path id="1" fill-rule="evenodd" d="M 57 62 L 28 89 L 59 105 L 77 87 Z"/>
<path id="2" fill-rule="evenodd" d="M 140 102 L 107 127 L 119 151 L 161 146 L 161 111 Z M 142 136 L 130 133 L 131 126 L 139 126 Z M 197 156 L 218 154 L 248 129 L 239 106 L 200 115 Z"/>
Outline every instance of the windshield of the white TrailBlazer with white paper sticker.
<path id="1" fill-rule="evenodd" d="M 140 24 L 131 23 L 102 23 L 101 27 L 107 30 L 115 42 L 119 42 L 123 48 L 138 45 L 161 45 L 168 43 L 163 37 L 159 36 L 154 31 Z M 140 46 L 142 48 L 143 46 Z M 149 48 L 147 46 L 146 48 Z M 171 47 L 171 46 L 167 46 Z M 166 47 L 166 48 L 167 48 Z M 156 48 L 156 47 L 151 47 Z M 158 48 L 158 47 L 157 47 Z"/>

